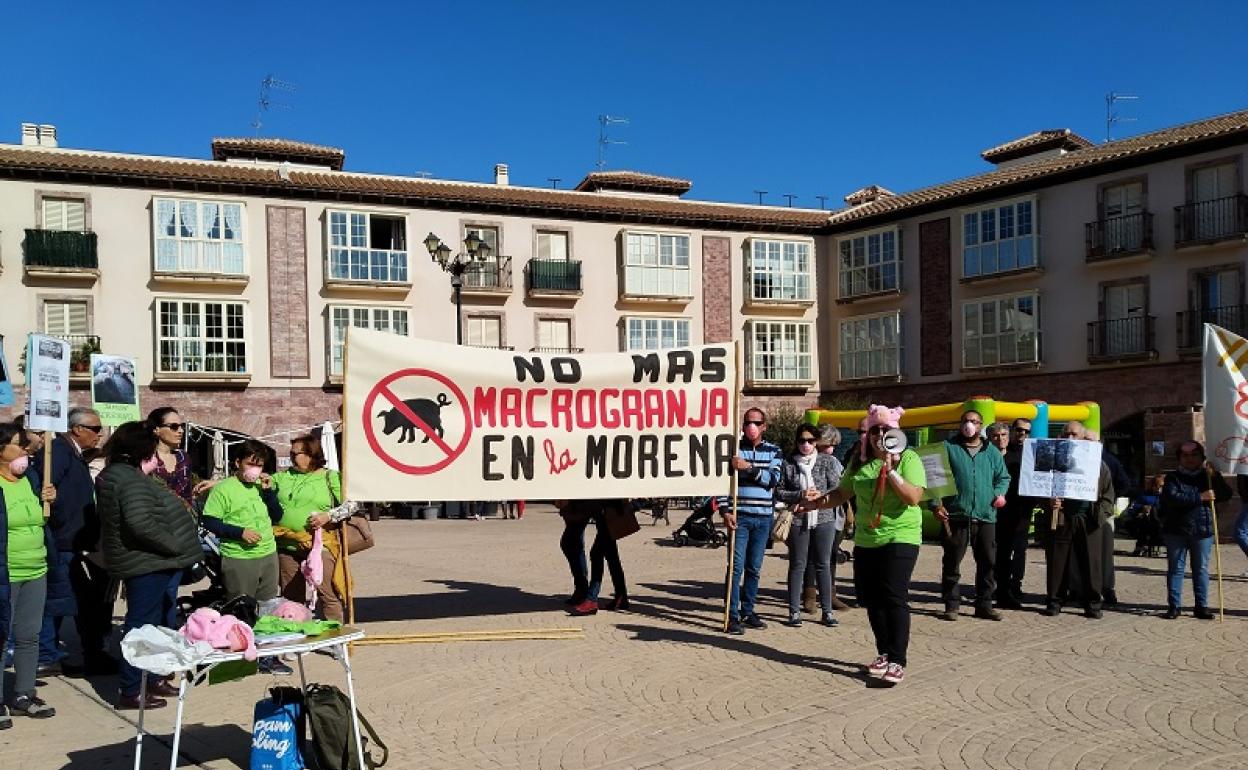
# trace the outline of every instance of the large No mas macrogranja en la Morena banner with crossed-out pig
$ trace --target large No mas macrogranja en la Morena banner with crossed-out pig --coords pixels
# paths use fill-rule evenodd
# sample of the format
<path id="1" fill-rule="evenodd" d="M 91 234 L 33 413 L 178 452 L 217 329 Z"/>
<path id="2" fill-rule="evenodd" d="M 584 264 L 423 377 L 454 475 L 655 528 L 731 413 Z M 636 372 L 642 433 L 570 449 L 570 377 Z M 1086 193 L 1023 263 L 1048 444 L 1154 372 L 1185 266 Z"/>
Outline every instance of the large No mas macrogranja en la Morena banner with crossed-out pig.
<path id="1" fill-rule="evenodd" d="M 730 344 L 587 356 L 352 328 L 343 473 L 353 500 L 725 494 Z"/>

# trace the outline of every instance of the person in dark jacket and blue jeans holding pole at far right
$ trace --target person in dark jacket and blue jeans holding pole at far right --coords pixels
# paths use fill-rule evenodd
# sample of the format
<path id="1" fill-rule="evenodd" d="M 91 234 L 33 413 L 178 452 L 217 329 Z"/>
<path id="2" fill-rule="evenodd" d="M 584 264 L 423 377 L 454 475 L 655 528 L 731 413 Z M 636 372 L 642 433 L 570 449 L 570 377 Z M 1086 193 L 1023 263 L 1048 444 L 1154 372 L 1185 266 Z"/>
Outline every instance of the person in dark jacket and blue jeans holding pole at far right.
<path id="1" fill-rule="evenodd" d="M 1212 482 L 1212 483 L 1211 483 Z M 1183 569 L 1192 554 L 1192 593 L 1202 620 L 1212 620 L 1209 610 L 1209 557 L 1213 553 L 1216 503 L 1231 499 L 1231 487 L 1217 470 L 1209 472 L 1204 447 L 1187 441 L 1178 446 L 1178 469 L 1162 483 L 1162 540 L 1166 543 L 1166 614 L 1178 618 L 1183 607 Z"/>

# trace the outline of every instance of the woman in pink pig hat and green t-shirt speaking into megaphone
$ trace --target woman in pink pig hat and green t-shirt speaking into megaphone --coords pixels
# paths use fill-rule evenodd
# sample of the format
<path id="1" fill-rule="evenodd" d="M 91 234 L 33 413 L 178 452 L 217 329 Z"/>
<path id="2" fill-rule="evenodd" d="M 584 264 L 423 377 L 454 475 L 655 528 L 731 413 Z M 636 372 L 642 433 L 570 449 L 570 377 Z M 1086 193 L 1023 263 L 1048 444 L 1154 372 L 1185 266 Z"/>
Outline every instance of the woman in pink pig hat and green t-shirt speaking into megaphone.
<path id="1" fill-rule="evenodd" d="M 876 658 L 866 670 L 890 685 L 906 678 L 910 646 L 910 578 L 922 543 L 919 500 L 927 485 L 922 461 L 911 451 L 900 454 L 885 447 L 885 434 L 900 428 L 901 407 L 872 404 L 864 423 L 856 467 L 841 477 L 840 487 L 801 505 L 835 508 L 857 498 L 854 545 L 854 584 L 875 635 Z"/>

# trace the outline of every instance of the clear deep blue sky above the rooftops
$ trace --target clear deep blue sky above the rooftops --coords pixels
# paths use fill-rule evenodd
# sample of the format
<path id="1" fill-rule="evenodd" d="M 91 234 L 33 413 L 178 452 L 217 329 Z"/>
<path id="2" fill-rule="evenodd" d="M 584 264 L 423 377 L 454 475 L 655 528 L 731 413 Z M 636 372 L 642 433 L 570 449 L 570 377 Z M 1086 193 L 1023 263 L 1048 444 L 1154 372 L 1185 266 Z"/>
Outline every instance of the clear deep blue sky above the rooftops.
<path id="1" fill-rule="evenodd" d="M 347 168 L 570 187 L 598 115 L 609 168 L 689 197 L 817 207 L 880 183 L 987 170 L 1037 129 L 1104 139 L 1248 107 L 1248 2 L 81 2 L 4 12 L 0 140 L 55 124 L 70 147 L 206 157 L 212 136 L 343 147 Z M 75 10 L 76 9 L 76 10 Z"/>

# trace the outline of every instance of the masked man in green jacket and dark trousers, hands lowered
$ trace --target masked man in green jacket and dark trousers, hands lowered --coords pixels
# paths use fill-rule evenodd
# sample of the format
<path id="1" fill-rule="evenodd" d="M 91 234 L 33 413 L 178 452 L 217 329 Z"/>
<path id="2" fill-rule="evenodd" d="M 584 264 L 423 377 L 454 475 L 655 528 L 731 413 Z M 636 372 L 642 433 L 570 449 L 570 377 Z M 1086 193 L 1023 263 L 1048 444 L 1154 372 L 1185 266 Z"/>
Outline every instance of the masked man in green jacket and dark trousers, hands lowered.
<path id="1" fill-rule="evenodd" d="M 980 437 L 983 418 L 968 409 L 962 414 L 957 436 L 945 442 L 948 467 L 953 472 L 957 493 L 932 500 L 931 508 L 942 523 L 941 598 L 945 612 L 941 620 L 957 620 L 961 604 L 962 558 L 967 545 L 975 557 L 975 616 L 1001 620 L 992 608 L 996 590 L 997 509 L 1006 504 L 1010 473 L 996 447 Z"/>

